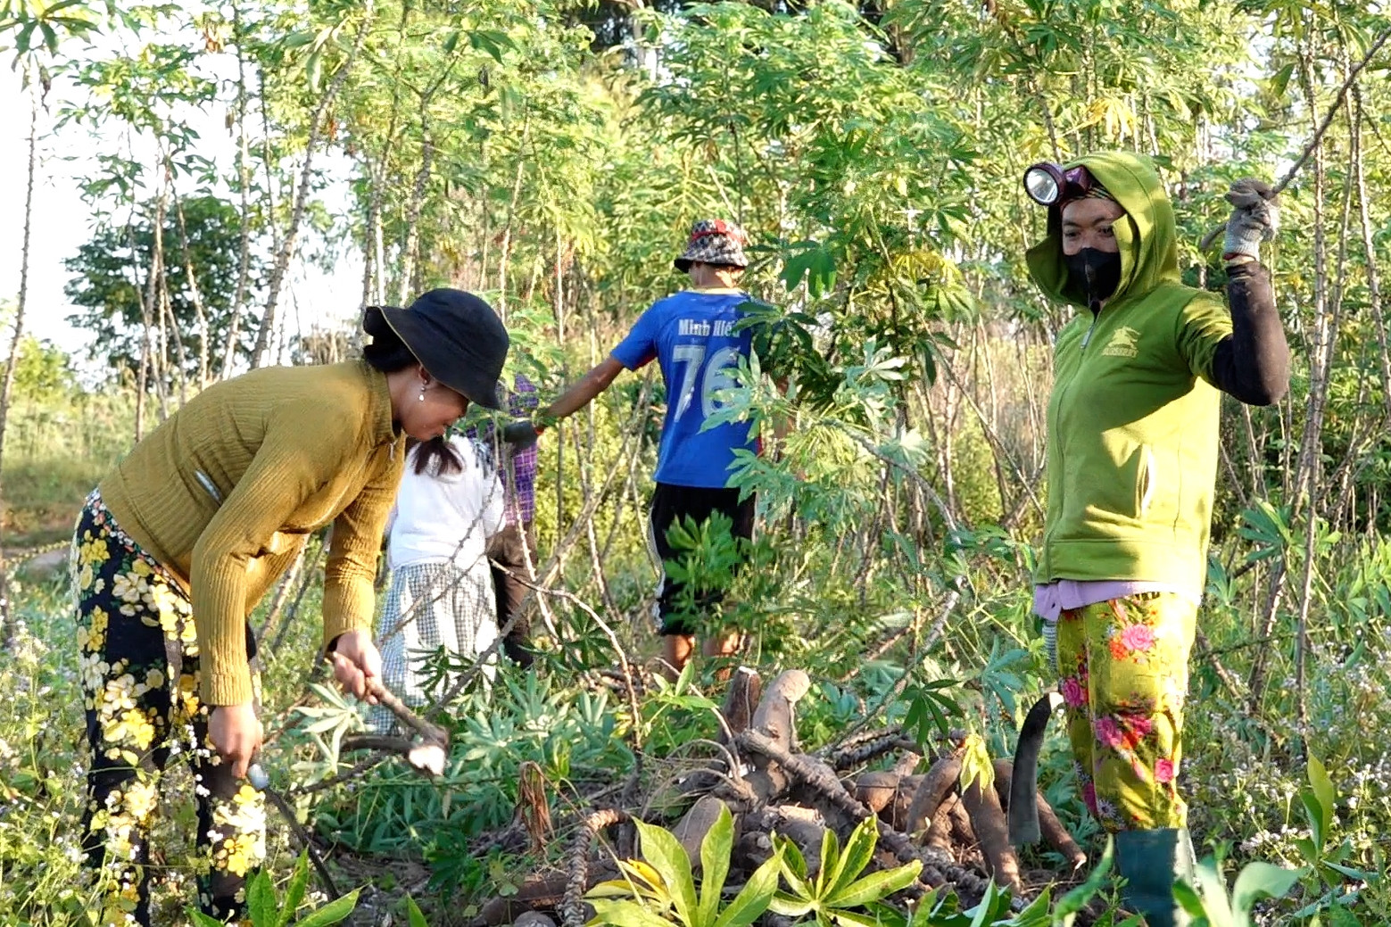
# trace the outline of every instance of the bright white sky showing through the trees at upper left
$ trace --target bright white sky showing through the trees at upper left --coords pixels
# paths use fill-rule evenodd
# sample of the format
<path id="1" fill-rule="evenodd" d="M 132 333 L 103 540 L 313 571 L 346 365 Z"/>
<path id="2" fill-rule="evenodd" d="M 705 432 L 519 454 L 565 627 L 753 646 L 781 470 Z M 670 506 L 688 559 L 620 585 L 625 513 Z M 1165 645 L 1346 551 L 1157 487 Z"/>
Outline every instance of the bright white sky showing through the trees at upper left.
<path id="1" fill-rule="evenodd" d="M 25 171 L 28 167 L 29 97 L 21 88 L 19 74 L 11 70 L 11 54 L 4 56 L 0 68 L 0 301 L 14 302 L 19 294 L 21 248 L 24 242 Z M 53 134 L 57 97 L 64 85 L 54 81 L 50 93 L 51 113 L 39 113 L 39 166 L 35 175 L 33 220 L 29 241 L 29 285 L 25 312 L 25 331 L 47 338 L 70 352 L 78 352 L 90 342 L 86 331 L 67 323 L 75 310 L 63 287 L 71 277 L 63 262 L 77 253 L 92 232 L 92 210 L 82 202 L 78 178 L 90 171 L 90 159 L 99 150 L 97 139 L 86 128 L 64 127 Z M 67 90 L 72 92 L 72 90 Z M 223 124 L 221 110 L 196 114 L 200 134 L 198 153 L 216 161 L 224 171 L 234 164 L 235 139 Z M 111 143 L 111 142 L 106 142 Z M 72 160 L 70 160 L 72 159 Z M 316 154 L 316 164 L 331 164 L 324 152 Z M 341 163 L 341 160 L 339 160 Z M 188 182 L 188 181 L 185 181 Z M 193 192 L 185 187 L 184 192 Z M 348 207 L 345 192 L 327 198 L 331 212 Z M 220 191 L 230 196 L 227 191 Z M 319 242 L 307 242 L 309 248 Z M 300 241 L 300 252 L 306 242 Z M 295 260 L 291 264 L 287 288 L 281 294 L 281 317 L 294 327 L 337 324 L 351 320 L 360 309 L 362 260 L 349 252 L 337 262 L 332 274 L 324 274 Z M 260 306 L 252 306 L 259 315 Z M 296 319 L 298 316 L 298 319 Z M 253 323 L 255 324 L 255 323 Z M 0 331 L 0 352 L 10 347 L 8 326 Z"/>

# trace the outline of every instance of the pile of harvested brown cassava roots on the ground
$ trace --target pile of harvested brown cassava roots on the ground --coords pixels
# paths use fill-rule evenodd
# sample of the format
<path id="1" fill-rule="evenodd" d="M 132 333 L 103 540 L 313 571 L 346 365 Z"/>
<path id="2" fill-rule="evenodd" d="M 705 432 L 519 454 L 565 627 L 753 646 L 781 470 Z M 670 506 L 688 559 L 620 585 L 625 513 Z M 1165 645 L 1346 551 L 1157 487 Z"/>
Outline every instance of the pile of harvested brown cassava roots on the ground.
<path id="1" fill-rule="evenodd" d="M 1038 796 L 1045 842 L 1064 859 L 1067 871 L 1021 871 L 1008 842 L 1006 807 L 1013 768 L 995 764 L 995 785 L 961 791 L 960 742 L 940 756 L 922 757 L 918 746 L 897 732 L 879 732 L 843 743 L 821 756 L 801 753 L 796 739 L 794 706 L 811 686 L 805 672 L 790 670 L 759 693 L 758 674 L 743 668 L 730 682 L 722 710 L 725 734 L 721 754 L 704 768 L 682 777 L 676 795 L 650 798 L 647 807 L 677 807 L 684 813 L 664 824 L 698 866 L 700 846 L 722 807 L 736 821 L 730 884 L 739 884 L 773 853 L 775 834 L 794 842 L 815 866 L 822 835 L 835 831 L 842 843 L 867 817 L 876 817 L 879 852 L 874 867 L 922 863 L 919 885 L 949 888 L 975 903 L 993 878 L 1008 887 L 1022 906 L 1032 888 L 1071 881 L 1086 856 Z M 860 771 L 867 763 L 896 754 L 890 771 Z M 925 772 L 915 772 L 925 768 Z M 638 814 L 637 810 L 633 814 Z M 593 914 L 583 901 L 594 884 L 616 876 L 615 859 L 634 853 L 632 816 L 620 809 L 584 811 L 572 823 L 566 870 L 536 874 L 522 889 L 497 898 L 472 921 L 474 927 L 555 924 L 579 927 Z M 771 919 L 771 920 L 768 920 Z M 766 916 L 773 923 L 776 916 Z"/>

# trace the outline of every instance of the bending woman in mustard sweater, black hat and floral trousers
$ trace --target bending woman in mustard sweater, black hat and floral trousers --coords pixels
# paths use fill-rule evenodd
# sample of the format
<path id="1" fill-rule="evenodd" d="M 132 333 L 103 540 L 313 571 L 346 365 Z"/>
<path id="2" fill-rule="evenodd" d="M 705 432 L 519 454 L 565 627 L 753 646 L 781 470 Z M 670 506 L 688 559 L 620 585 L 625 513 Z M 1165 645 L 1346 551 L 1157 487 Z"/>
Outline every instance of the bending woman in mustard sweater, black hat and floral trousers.
<path id="1" fill-rule="evenodd" d="M 364 359 L 266 367 L 209 387 L 88 497 L 72 547 L 92 746 L 83 848 L 102 924 L 149 924 L 149 823 L 172 753 L 198 781 L 199 906 L 238 917 L 264 855 L 260 793 L 242 782 L 260 746 L 248 615 L 310 534 L 332 525 L 324 647 L 363 697 L 380 676 L 373 579 L 401 479 L 403 436 L 444 434 L 498 408 L 508 334 L 472 294 L 433 290 L 370 308 Z"/>

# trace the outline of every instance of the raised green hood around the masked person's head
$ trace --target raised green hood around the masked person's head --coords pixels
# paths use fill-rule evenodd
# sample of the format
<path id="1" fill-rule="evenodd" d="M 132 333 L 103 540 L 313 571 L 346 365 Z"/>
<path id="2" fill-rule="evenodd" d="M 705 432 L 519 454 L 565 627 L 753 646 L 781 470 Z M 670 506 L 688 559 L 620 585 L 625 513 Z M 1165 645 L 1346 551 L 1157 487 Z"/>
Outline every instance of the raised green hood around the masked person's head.
<path id="1" fill-rule="evenodd" d="M 1117 306 L 1143 296 L 1161 283 L 1178 283 L 1178 235 L 1174 206 L 1148 157 L 1128 152 L 1088 154 L 1064 168 L 1082 166 L 1116 198 L 1125 214 L 1116 220 L 1121 252 L 1121 281 L 1107 299 Z M 1063 259 L 1063 210 L 1047 210 L 1047 238 L 1028 252 L 1029 274 L 1045 294 L 1059 302 L 1086 308 L 1086 296 L 1067 276 Z"/>

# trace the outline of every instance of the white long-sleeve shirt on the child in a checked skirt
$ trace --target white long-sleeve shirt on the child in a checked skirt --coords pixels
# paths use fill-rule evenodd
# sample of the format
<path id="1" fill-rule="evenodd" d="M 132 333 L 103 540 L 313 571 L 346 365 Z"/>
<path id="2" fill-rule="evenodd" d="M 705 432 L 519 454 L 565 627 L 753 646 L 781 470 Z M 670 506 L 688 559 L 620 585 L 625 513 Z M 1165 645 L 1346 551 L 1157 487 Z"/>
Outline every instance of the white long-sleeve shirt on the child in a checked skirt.
<path id="1" fill-rule="evenodd" d="M 488 539 L 502 530 L 497 470 L 467 438 L 451 437 L 449 444 L 463 464 L 456 473 L 440 473 L 435 466 L 416 473 L 419 447 L 406 457 L 387 541 L 392 569 L 449 561 L 467 569 L 483 560 Z"/>

